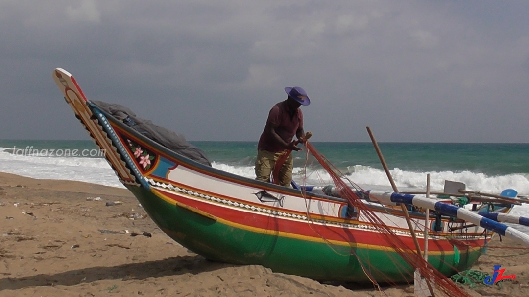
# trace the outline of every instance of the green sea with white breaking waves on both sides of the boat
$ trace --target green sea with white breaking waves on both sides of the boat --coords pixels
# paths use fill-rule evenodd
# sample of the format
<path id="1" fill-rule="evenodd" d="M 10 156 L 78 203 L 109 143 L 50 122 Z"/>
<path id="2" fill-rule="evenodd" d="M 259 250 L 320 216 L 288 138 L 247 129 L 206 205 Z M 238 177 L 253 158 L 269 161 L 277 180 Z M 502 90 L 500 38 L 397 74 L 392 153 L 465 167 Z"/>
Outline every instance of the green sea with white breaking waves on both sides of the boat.
<path id="1" fill-rule="evenodd" d="M 254 178 L 257 142 L 195 141 L 213 167 Z M 364 189 L 391 190 L 371 143 L 313 142 L 336 168 Z M 512 188 L 529 195 L 527 143 L 379 143 L 399 190 L 432 191 L 444 180 L 465 183 L 469 190 L 500 193 Z M 76 154 L 74 154 L 74 152 Z M 329 184 L 330 176 L 306 150 L 293 152 L 298 184 Z M 90 140 L 0 140 L 0 171 L 33 178 L 87 181 L 123 187 Z"/>

